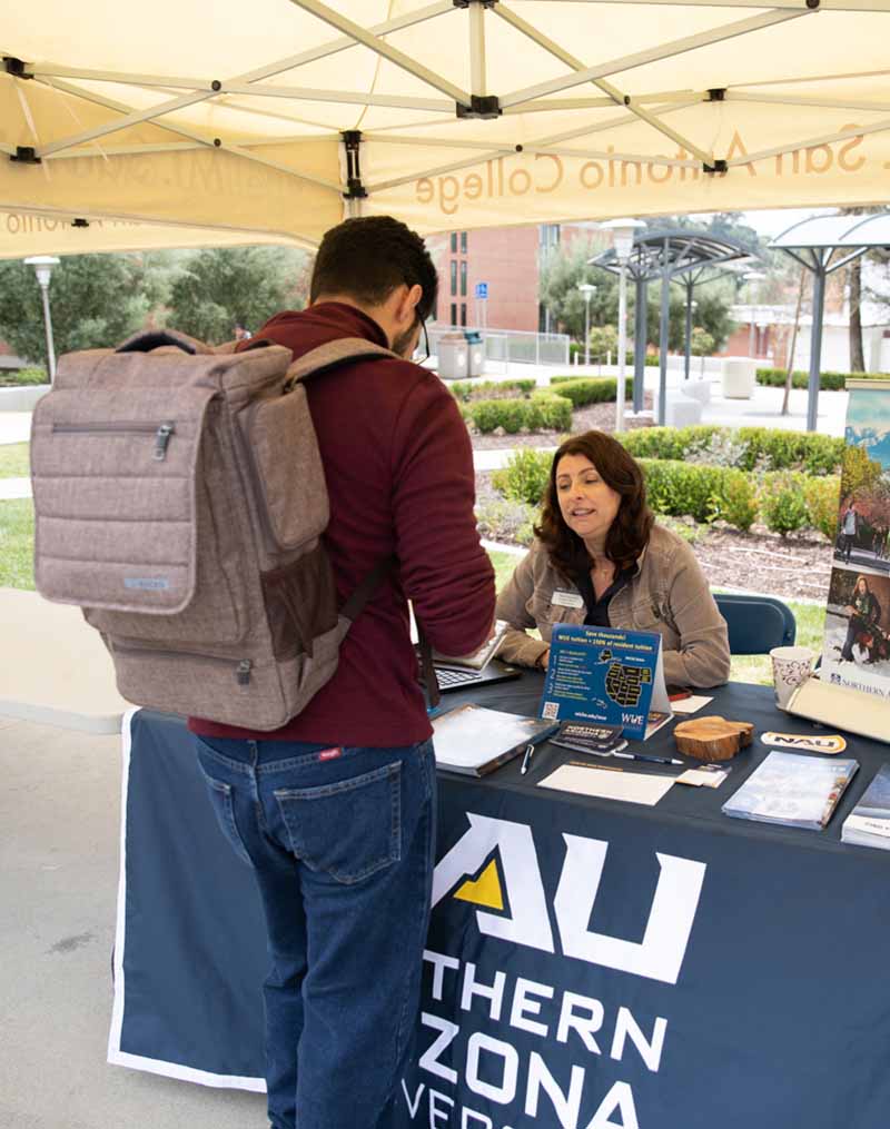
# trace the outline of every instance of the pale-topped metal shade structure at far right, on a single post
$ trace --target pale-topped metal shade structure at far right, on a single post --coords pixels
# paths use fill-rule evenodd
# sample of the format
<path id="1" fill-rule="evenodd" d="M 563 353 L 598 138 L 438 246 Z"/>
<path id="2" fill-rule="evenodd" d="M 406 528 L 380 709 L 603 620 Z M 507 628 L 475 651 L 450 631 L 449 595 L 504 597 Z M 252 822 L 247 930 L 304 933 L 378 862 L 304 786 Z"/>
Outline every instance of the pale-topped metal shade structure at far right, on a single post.
<path id="1" fill-rule="evenodd" d="M 890 248 L 890 212 L 875 216 L 814 216 L 793 224 L 770 246 L 791 255 L 813 275 L 813 323 L 810 339 L 806 430 L 814 431 L 819 414 L 819 373 L 826 280 L 871 247 Z"/>

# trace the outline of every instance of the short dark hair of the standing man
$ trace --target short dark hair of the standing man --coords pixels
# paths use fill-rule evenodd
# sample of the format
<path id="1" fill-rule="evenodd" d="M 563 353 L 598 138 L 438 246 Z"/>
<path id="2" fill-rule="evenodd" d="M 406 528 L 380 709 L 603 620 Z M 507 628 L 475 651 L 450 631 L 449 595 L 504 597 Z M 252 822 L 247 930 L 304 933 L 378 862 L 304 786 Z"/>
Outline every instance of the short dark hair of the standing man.
<path id="1" fill-rule="evenodd" d="M 348 219 L 326 231 L 309 285 L 309 301 L 343 294 L 379 306 L 402 283 L 424 294 L 417 314 L 426 321 L 436 305 L 438 277 L 420 236 L 391 216 Z"/>

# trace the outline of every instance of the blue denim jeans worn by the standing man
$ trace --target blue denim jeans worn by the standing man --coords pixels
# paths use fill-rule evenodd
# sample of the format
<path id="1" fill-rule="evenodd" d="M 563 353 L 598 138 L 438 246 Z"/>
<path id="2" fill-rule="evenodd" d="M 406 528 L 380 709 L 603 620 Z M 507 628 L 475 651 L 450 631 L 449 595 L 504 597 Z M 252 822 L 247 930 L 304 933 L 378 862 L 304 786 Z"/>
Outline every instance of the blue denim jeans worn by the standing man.
<path id="1" fill-rule="evenodd" d="M 433 743 L 195 741 L 219 824 L 265 912 L 272 1126 L 384 1129 L 420 996 Z"/>

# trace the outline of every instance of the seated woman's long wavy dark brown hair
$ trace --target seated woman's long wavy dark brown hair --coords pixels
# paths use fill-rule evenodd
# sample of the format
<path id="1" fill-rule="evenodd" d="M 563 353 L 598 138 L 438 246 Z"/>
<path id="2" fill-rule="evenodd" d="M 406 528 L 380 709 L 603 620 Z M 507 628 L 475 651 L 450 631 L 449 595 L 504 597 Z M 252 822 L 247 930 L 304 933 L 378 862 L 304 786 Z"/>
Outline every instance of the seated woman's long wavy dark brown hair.
<path id="1" fill-rule="evenodd" d="M 618 569 L 630 568 L 648 543 L 654 518 L 646 505 L 646 483 L 635 458 L 620 443 L 603 431 L 585 431 L 566 439 L 553 455 L 544 493 L 538 539 L 546 546 L 550 562 L 566 579 L 590 568 L 584 542 L 565 522 L 557 497 L 556 474 L 565 455 L 590 458 L 600 478 L 621 496 L 618 514 L 605 536 L 605 555 Z"/>

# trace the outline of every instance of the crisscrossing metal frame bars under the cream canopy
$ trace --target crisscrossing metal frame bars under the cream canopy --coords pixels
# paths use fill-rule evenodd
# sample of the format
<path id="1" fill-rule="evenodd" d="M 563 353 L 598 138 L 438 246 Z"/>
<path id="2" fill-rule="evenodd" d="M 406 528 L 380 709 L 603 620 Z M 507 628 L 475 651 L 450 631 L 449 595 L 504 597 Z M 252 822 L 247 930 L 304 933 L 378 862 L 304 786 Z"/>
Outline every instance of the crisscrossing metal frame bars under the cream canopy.
<path id="1" fill-rule="evenodd" d="M 890 110 L 890 104 L 869 103 L 855 98 L 845 99 L 843 97 L 836 99 L 821 97 L 808 98 L 800 94 L 785 97 L 780 93 L 774 94 L 764 90 L 765 86 L 780 87 L 783 82 L 793 82 L 796 87 L 800 87 L 806 84 L 808 79 L 805 78 L 779 79 L 758 84 L 753 89 L 733 85 L 727 89 L 704 91 L 672 90 L 660 94 L 646 93 L 643 96 L 636 96 L 632 91 L 625 90 L 608 81 L 610 76 L 630 71 L 647 63 L 675 58 L 677 55 L 712 44 L 724 43 L 740 36 L 765 32 L 773 26 L 784 25 L 788 20 L 813 16 L 819 12 L 890 12 L 890 0 L 770 0 L 768 10 L 766 11 L 762 3 L 758 3 L 756 0 L 681 0 L 683 7 L 725 8 L 730 11 L 734 9 L 758 9 L 758 12 L 757 15 L 744 16 L 741 19 L 723 24 L 696 35 L 660 44 L 630 55 L 600 62 L 595 65 L 586 65 L 583 60 L 546 35 L 541 28 L 534 27 L 527 20 L 523 19 L 505 0 L 435 0 L 433 3 L 419 7 L 411 12 L 367 29 L 350 20 L 334 7 L 323 3 L 322 0 L 287 0 L 287 2 L 325 23 L 335 29 L 339 35 L 308 51 L 271 61 L 263 67 L 246 73 L 232 76 L 228 79 L 208 80 L 189 76 L 89 70 L 45 61 L 32 64 L 11 55 L 6 56 L 7 73 L 14 82 L 20 84 L 20 88 L 27 81 L 35 81 L 50 86 L 62 95 L 71 95 L 101 105 L 120 116 L 101 126 L 82 130 L 45 143 L 41 143 L 40 139 L 35 139 L 37 143 L 32 148 L 0 143 L 0 151 L 7 154 L 10 159 L 19 160 L 24 164 L 40 164 L 44 160 L 63 159 L 68 156 L 94 156 L 97 150 L 105 152 L 99 146 L 102 139 L 130 126 L 151 122 L 180 138 L 185 138 L 197 147 L 223 149 L 239 159 L 274 168 L 285 175 L 309 181 L 332 192 L 342 193 L 347 198 L 350 198 L 349 185 L 317 177 L 312 173 L 295 168 L 293 165 L 283 161 L 271 160 L 256 151 L 265 145 L 273 143 L 271 139 L 251 139 L 247 141 L 246 139 L 232 140 L 225 137 L 211 137 L 189 124 L 183 124 L 177 120 L 176 115 L 190 106 L 213 100 L 221 107 L 238 113 L 246 112 L 270 117 L 277 116 L 273 111 L 268 108 L 251 107 L 245 104 L 245 99 L 250 102 L 254 97 L 274 98 L 282 102 L 282 104 L 287 102 L 297 104 L 309 102 L 356 105 L 360 107 L 357 114 L 357 124 L 361 120 L 364 110 L 373 106 L 413 110 L 419 114 L 445 115 L 440 120 L 421 117 L 415 123 L 415 128 L 430 128 L 436 123 L 444 124 L 445 122 L 453 122 L 459 117 L 486 119 L 504 116 L 506 119 L 516 113 L 546 111 L 592 111 L 594 113 L 601 111 L 605 114 L 609 114 L 610 110 L 622 111 L 620 114 L 609 115 L 603 120 L 588 120 L 571 131 L 533 139 L 523 146 L 509 145 L 507 142 L 469 142 L 457 137 L 448 135 L 430 137 L 429 139 L 424 139 L 422 143 L 427 146 L 440 146 L 443 148 L 452 147 L 455 150 L 463 150 L 464 152 L 469 149 L 472 152 L 461 159 L 455 159 L 447 164 L 444 163 L 437 168 L 418 169 L 411 176 L 382 180 L 376 184 L 363 185 L 365 194 L 383 193 L 387 189 L 398 187 L 420 176 L 444 175 L 450 172 L 481 165 L 495 157 L 517 151 L 534 155 L 550 154 L 552 156 L 582 159 L 603 159 L 604 157 L 609 157 L 623 161 L 692 167 L 709 174 L 725 173 L 731 175 L 734 169 L 750 166 L 756 161 L 766 160 L 770 157 L 778 157 L 783 154 L 794 152 L 808 147 L 845 141 L 864 134 L 890 130 L 890 117 L 883 117 L 867 124 L 857 125 L 853 130 L 836 131 L 817 138 L 797 138 L 788 140 L 782 146 L 771 147 L 758 152 L 719 158 L 704 149 L 700 145 L 697 145 L 681 130 L 674 129 L 665 121 L 665 116 L 673 111 L 687 108 L 692 105 L 724 100 L 759 102 L 765 105 L 817 106 L 830 110 L 850 110 L 884 114 Z M 588 3 L 593 2 L 593 0 L 564 0 L 564 2 Z M 607 2 L 613 5 L 665 3 L 677 6 L 677 0 L 607 0 Z M 455 11 L 465 12 L 466 18 L 470 90 L 462 89 L 445 75 L 424 65 L 387 42 L 387 36 L 396 32 L 426 24 Z M 487 67 L 486 20 L 492 17 L 504 20 L 517 33 L 534 42 L 542 51 L 559 60 L 567 68 L 567 73 L 534 86 L 505 91 L 500 95 L 491 94 Z M 293 71 L 306 63 L 329 58 L 356 45 L 374 52 L 378 59 L 399 67 L 424 82 L 431 91 L 435 91 L 435 96 L 389 96 L 374 91 L 324 90 L 314 87 L 291 87 L 267 82 L 267 80 L 278 75 Z M 890 72 L 881 71 L 879 73 L 885 76 Z M 839 80 L 844 78 L 862 79 L 863 77 L 865 76 L 862 73 L 849 72 L 840 76 L 828 76 L 827 78 Z M 0 79 L 2 79 L 2 76 L 0 76 Z M 809 81 L 824 81 L 824 79 L 826 76 L 814 76 Z M 142 90 L 174 91 L 174 94 L 172 97 L 152 106 L 138 108 L 114 98 L 105 97 L 91 87 L 84 86 L 82 84 L 85 82 L 110 82 L 117 86 L 131 86 Z M 597 96 L 569 97 L 564 99 L 553 97 L 553 95 L 561 91 L 587 84 L 594 86 L 599 91 Z M 235 99 L 238 100 L 236 102 Z M 316 138 L 330 138 L 334 132 L 330 126 L 324 126 L 321 123 L 312 123 L 305 119 L 288 117 L 283 113 L 281 114 L 281 121 L 290 121 L 317 131 L 305 134 L 298 133 L 296 137 L 291 137 L 290 141 L 298 141 L 300 139 L 311 141 Z M 614 152 L 604 154 L 603 150 L 586 147 L 583 149 L 565 147 L 566 141 L 590 138 L 592 134 L 608 131 L 629 122 L 640 122 L 658 135 L 669 138 L 681 148 L 682 156 L 679 158 L 665 158 L 648 152 L 616 155 Z M 398 125 L 386 130 L 374 130 L 365 135 L 365 140 L 394 145 L 419 143 L 419 141 L 415 141 L 413 139 L 401 137 L 399 131 L 402 129 L 405 129 L 405 126 Z M 343 132 L 356 134 L 358 130 L 347 130 Z M 285 139 L 281 140 L 283 141 Z M 361 138 L 359 137 L 360 140 Z M 176 143 L 180 145 L 180 142 Z M 346 142 L 343 145 L 346 146 Z M 148 151 L 164 150 L 160 145 L 154 149 L 142 146 L 120 146 L 108 149 L 107 154 L 124 155 L 128 152 Z M 357 205 L 357 209 L 360 209 L 360 204 Z"/>

